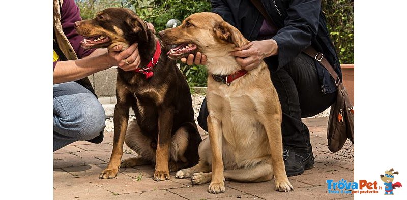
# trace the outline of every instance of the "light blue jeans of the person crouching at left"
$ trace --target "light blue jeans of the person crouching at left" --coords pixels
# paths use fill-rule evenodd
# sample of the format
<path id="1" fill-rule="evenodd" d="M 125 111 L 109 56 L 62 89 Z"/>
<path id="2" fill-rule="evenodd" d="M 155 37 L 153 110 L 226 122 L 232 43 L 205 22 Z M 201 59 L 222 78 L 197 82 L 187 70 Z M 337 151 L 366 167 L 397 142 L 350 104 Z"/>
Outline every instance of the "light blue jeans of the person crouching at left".
<path id="1" fill-rule="evenodd" d="M 96 96 L 75 82 L 55 84 L 53 89 L 54 151 L 99 136 L 106 116 Z"/>

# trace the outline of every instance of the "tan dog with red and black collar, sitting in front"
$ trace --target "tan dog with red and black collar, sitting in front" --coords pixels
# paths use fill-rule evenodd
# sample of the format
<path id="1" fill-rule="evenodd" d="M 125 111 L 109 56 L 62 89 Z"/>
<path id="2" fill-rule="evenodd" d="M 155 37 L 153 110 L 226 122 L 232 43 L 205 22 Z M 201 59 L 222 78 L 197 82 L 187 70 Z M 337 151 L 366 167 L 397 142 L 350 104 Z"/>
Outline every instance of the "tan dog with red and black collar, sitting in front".
<path id="1" fill-rule="evenodd" d="M 193 14 L 159 35 L 166 44 L 181 44 L 169 51 L 170 58 L 197 51 L 208 58 L 209 140 L 199 145 L 199 163 L 176 177 L 191 177 L 193 184 L 211 181 L 208 191 L 220 193 L 224 178 L 267 181 L 274 171 L 275 189 L 292 190 L 282 158 L 281 106 L 267 65 L 245 72 L 229 55 L 249 41 L 214 13 Z"/>

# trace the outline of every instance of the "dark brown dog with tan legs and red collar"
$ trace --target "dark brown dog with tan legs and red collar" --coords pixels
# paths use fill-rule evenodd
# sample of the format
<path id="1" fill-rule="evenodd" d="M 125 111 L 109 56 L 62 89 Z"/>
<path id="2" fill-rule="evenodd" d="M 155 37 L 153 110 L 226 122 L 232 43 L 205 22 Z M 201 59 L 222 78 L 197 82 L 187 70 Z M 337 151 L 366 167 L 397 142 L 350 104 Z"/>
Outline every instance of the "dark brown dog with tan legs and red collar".
<path id="1" fill-rule="evenodd" d="M 165 54 L 158 58 L 157 54 L 159 49 L 166 52 L 170 48 L 162 45 L 146 23 L 129 9 L 108 8 L 94 19 L 76 22 L 75 27 L 78 34 L 88 37 L 82 41 L 85 48 L 111 48 L 118 44 L 127 48 L 137 42 L 139 69 L 151 62 L 156 64 L 153 72 L 145 70 L 149 75 L 142 73 L 143 70 L 125 72 L 118 68 L 113 151 L 99 178 L 115 177 L 120 166 L 155 163 L 153 179 L 162 181 L 170 178 L 169 171 L 198 163 L 201 138 L 188 84 L 175 61 Z M 130 107 L 136 121 L 130 122 L 127 128 Z M 121 162 L 124 141 L 140 157 Z"/>

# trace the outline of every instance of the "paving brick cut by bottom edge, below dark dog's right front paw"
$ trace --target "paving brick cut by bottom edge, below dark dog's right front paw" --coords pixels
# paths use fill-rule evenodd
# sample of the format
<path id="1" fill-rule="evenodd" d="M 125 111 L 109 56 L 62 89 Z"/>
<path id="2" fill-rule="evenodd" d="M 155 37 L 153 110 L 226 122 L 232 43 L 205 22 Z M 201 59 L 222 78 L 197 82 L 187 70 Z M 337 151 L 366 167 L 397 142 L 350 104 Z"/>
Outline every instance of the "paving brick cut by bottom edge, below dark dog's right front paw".
<path id="1" fill-rule="evenodd" d="M 130 194 L 121 194 L 118 195 L 120 199 L 185 199 L 177 194 L 171 193 L 166 190 L 154 190 L 154 191 L 146 191 L 146 192 L 137 192 L 137 193 L 130 193 Z"/>

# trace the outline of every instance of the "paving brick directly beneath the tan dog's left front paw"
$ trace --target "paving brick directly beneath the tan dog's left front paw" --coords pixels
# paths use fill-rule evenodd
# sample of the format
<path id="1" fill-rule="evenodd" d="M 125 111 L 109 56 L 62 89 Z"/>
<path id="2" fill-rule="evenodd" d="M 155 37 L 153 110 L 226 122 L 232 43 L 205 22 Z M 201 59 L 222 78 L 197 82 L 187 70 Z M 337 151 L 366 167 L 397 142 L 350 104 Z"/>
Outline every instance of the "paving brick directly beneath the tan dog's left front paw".
<path id="1" fill-rule="evenodd" d="M 182 187 L 176 189 L 168 189 L 168 191 L 176 193 L 184 198 L 188 199 L 209 199 L 209 198 L 221 198 L 229 196 L 240 196 L 245 195 L 245 193 L 238 191 L 236 189 L 226 186 L 226 191 L 220 194 L 210 194 L 208 193 L 209 183 L 203 185 L 195 185 L 193 187 Z"/>

